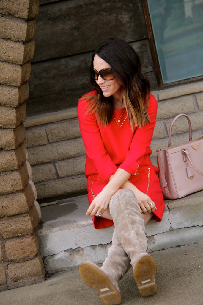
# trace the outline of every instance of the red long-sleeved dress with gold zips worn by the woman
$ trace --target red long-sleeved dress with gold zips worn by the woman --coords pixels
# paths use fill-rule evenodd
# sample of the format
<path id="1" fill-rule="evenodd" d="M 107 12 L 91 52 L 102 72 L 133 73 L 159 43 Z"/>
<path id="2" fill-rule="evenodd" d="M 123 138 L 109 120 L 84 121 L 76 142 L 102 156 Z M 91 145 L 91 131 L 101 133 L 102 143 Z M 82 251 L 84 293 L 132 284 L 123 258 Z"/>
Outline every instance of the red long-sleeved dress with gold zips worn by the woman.
<path id="1" fill-rule="evenodd" d="M 93 93 L 91 92 L 91 94 Z M 124 121 L 127 115 L 124 108 L 114 109 L 118 118 L 124 111 L 120 123 L 117 123 L 112 117 L 110 123 L 106 127 L 102 127 L 95 114 L 86 115 L 88 102 L 82 98 L 79 100 L 78 118 L 87 154 L 85 175 L 89 204 L 93 201 L 93 194 L 96 196 L 100 193 L 117 168 L 122 168 L 132 175 L 129 181 L 140 191 L 147 193 L 155 202 L 157 210 L 154 211 L 152 219 L 157 222 L 161 221 L 164 201 L 157 177 L 159 169 L 152 165 L 149 158 L 152 153 L 149 145 L 156 124 L 157 102 L 155 97 L 150 94 L 148 106 L 150 123 L 145 124 L 142 128 L 134 128 L 134 131 L 131 130 L 128 119 Z M 136 175 L 134 175 L 135 173 Z M 93 224 L 96 229 L 101 229 L 114 223 L 112 220 L 93 216 Z"/>

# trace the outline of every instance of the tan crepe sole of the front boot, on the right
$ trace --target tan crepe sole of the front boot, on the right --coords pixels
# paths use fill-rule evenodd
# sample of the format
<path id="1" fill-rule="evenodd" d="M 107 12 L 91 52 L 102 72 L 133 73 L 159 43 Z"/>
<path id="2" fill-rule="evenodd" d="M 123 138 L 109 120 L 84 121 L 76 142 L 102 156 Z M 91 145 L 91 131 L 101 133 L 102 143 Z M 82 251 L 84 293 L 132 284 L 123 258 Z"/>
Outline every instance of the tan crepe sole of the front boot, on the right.
<path id="1" fill-rule="evenodd" d="M 142 257 L 135 266 L 133 277 L 141 296 L 153 296 L 157 289 L 154 282 L 156 263 L 151 256 Z"/>

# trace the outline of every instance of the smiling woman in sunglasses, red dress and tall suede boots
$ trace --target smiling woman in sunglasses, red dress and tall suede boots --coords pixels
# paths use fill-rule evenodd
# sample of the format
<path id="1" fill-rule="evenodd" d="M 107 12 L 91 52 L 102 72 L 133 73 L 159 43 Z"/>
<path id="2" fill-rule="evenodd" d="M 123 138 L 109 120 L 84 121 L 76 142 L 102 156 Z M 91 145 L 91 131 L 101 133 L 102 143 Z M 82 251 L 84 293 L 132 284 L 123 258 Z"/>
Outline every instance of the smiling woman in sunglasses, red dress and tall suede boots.
<path id="1" fill-rule="evenodd" d="M 115 225 L 112 246 L 99 268 L 79 267 L 83 281 L 107 305 L 120 304 L 119 280 L 133 267 L 142 296 L 156 293 L 156 264 L 146 253 L 145 224 L 161 221 L 164 202 L 158 169 L 149 158 L 157 102 L 142 74 L 134 49 L 108 39 L 93 53 L 94 90 L 78 104 L 79 126 L 86 149 L 89 209 L 96 229 Z"/>

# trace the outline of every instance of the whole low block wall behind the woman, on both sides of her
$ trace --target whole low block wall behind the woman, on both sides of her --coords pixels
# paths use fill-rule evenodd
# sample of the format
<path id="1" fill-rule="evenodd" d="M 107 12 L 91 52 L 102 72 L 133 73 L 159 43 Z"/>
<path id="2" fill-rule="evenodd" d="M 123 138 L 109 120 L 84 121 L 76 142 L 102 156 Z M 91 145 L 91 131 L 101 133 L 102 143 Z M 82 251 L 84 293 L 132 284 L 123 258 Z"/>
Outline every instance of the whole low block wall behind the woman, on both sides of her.
<path id="1" fill-rule="evenodd" d="M 168 146 L 173 118 L 186 113 L 191 119 L 193 139 L 203 135 L 203 82 L 152 91 L 158 101 L 157 122 L 152 140 L 152 163 L 156 149 Z M 86 192 L 85 149 L 79 131 L 77 109 L 29 117 L 25 122 L 26 146 L 38 199 L 53 200 Z M 173 126 L 172 145 L 187 142 L 187 119 Z"/>

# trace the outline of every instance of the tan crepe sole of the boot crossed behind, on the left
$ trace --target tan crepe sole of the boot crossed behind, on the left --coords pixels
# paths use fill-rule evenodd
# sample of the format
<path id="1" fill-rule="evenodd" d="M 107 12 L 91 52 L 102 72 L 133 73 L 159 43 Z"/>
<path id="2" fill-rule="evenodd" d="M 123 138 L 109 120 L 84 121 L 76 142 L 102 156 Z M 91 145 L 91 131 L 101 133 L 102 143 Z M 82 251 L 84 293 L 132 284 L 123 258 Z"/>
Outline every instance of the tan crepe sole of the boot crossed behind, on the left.
<path id="1" fill-rule="evenodd" d="M 84 262 L 79 267 L 79 274 L 83 282 L 95 289 L 106 305 L 121 304 L 121 295 L 111 283 L 107 275 L 91 262 Z"/>

